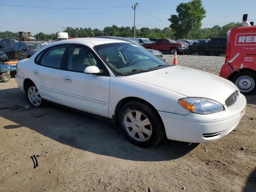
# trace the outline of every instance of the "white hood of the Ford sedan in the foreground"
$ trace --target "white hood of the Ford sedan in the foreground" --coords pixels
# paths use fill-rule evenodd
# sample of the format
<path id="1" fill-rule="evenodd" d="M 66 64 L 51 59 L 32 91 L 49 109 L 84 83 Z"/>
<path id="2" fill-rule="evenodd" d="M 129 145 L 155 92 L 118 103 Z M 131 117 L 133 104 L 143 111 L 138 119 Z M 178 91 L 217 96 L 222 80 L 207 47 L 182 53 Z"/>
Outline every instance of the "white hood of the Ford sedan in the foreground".
<path id="1" fill-rule="evenodd" d="M 127 78 L 159 86 L 188 97 L 210 98 L 221 104 L 225 104 L 225 100 L 238 90 L 232 82 L 224 78 L 182 66 L 134 74 Z"/>

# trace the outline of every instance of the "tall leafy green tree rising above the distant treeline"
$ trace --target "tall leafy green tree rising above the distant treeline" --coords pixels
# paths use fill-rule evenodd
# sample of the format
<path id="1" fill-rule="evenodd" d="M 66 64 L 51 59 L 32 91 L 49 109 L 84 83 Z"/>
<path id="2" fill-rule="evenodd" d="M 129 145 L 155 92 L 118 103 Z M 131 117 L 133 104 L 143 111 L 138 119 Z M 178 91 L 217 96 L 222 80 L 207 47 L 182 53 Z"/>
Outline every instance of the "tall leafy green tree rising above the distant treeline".
<path id="1" fill-rule="evenodd" d="M 181 3 L 177 6 L 176 12 L 177 15 L 172 14 L 168 19 L 176 38 L 190 38 L 191 33 L 198 31 L 202 26 L 202 19 L 206 14 L 202 0 Z"/>

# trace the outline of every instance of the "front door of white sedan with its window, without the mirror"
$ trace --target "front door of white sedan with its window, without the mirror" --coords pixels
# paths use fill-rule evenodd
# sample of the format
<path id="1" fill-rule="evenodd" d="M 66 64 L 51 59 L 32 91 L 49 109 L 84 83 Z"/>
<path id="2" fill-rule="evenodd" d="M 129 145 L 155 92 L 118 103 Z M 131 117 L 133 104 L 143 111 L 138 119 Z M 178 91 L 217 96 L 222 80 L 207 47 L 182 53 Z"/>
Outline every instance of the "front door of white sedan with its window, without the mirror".
<path id="1" fill-rule="evenodd" d="M 88 66 L 97 66 L 103 74 L 85 74 Z M 94 52 L 83 45 L 73 44 L 61 73 L 63 104 L 78 110 L 108 117 L 110 76 Z"/>

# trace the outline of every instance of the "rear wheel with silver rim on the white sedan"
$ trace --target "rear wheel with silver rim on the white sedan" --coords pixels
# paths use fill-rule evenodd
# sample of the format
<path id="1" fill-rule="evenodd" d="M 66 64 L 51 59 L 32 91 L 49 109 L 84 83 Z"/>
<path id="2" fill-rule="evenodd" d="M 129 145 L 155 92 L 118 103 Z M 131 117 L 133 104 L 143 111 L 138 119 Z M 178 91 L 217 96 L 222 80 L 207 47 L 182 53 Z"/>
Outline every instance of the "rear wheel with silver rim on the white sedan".
<path id="1" fill-rule="evenodd" d="M 37 108 L 45 108 L 47 106 L 46 101 L 41 98 L 40 93 L 38 92 L 38 89 L 33 82 L 28 82 L 25 88 L 25 92 L 26 98 L 32 106 Z"/>

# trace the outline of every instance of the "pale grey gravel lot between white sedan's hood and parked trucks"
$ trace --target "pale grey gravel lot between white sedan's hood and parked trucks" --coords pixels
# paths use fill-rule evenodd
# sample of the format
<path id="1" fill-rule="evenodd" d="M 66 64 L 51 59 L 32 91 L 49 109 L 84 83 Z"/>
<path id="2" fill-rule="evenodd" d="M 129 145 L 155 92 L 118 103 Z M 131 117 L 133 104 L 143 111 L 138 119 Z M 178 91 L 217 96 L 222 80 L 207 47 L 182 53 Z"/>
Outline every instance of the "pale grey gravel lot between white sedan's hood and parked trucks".
<path id="1" fill-rule="evenodd" d="M 165 54 L 166 62 L 172 64 L 174 55 Z M 225 62 L 224 56 L 178 55 L 178 65 L 219 74 Z"/>

